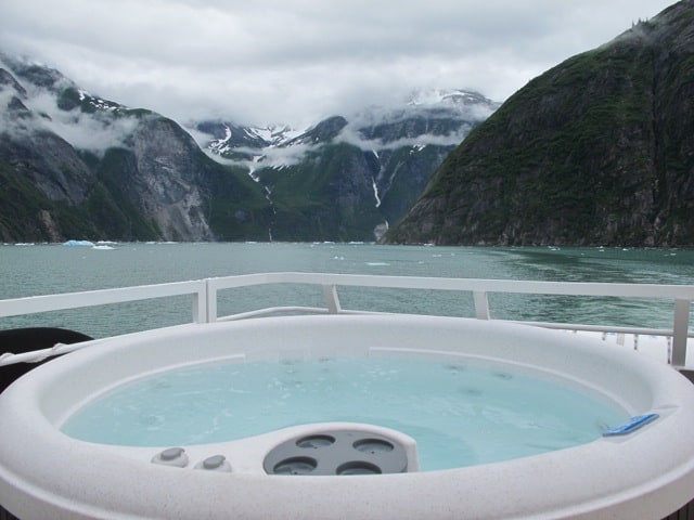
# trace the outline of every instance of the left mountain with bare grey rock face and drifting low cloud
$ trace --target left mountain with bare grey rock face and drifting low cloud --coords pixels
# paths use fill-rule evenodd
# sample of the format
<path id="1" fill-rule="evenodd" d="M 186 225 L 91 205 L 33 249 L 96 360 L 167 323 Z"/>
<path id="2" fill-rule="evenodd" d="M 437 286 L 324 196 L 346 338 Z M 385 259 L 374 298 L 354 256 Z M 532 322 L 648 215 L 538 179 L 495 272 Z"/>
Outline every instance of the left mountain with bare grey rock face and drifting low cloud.
<path id="1" fill-rule="evenodd" d="M 175 121 L 0 55 L 0 239 L 262 239 L 271 208 L 245 171 Z"/>

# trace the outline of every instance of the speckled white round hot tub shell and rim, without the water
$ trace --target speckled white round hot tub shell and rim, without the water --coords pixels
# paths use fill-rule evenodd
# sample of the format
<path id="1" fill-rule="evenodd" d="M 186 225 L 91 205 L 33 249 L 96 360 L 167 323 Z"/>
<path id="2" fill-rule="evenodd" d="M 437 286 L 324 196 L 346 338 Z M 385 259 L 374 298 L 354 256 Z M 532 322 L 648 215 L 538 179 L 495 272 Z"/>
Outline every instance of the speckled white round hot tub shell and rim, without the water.
<path id="1" fill-rule="evenodd" d="M 226 442 L 140 447 L 86 442 L 60 429 L 94 395 L 163 370 L 374 352 L 515 366 L 645 419 L 634 419 L 633 431 L 609 425 L 624 426 L 615 431 L 624 434 L 574 447 L 432 471 L 420 470 L 415 435 L 369 424 L 297 425 Z M 0 504 L 23 520 L 659 519 L 687 503 L 694 489 L 694 389 L 676 370 L 565 333 L 477 320 L 268 317 L 116 337 L 18 379 L 0 394 Z M 336 459 L 339 476 L 312 473 L 320 457 L 296 454 L 307 439 L 313 455 L 324 441 L 342 446 L 325 456 Z M 350 452 L 374 443 L 369 456 L 387 445 L 388 461 Z M 367 472 L 381 474 L 357 474 Z"/>

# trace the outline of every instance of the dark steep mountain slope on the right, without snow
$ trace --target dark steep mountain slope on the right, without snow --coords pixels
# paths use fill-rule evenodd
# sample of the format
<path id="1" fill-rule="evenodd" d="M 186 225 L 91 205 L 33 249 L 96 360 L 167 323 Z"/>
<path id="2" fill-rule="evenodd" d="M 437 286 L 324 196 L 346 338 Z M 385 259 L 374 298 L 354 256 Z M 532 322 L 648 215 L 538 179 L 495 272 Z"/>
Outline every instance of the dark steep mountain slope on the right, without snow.
<path id="1" fill-rule="evenodd" d="M 694 245 L 694 0 L 531 80 L 447 157 L 391 243 Z"/>

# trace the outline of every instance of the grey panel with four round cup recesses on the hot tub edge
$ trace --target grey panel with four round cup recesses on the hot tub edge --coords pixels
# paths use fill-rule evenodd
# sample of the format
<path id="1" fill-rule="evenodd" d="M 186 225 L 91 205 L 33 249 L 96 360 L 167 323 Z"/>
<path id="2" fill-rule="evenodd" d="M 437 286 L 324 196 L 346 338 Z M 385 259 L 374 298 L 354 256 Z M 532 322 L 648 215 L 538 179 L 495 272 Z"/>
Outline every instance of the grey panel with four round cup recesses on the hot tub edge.
<path id="1" fill-rule="evenodd" d="M 363 430 L 327 430 L 295 437 L 268 453 L 270 474 L 378 474 L 408 470 L 404 446 Z"/>

